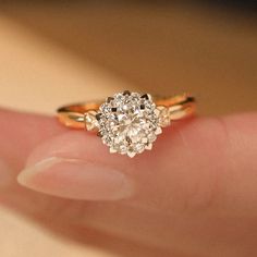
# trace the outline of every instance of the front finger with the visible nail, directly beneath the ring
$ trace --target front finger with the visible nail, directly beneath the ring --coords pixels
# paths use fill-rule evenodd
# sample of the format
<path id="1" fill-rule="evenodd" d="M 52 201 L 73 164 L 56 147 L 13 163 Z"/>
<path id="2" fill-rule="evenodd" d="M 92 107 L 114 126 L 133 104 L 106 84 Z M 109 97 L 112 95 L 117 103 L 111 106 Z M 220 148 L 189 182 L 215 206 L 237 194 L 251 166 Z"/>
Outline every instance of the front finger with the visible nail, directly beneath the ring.
<path id="1" fill-rule="evenodd" d="M 256 212 L 256 114 L 194 119 L 166 130 L 152 151 L 134 159 L 70 131 L 36 148 L 19 181 L 46 194 L 130 198 L 156 210 Z"/>

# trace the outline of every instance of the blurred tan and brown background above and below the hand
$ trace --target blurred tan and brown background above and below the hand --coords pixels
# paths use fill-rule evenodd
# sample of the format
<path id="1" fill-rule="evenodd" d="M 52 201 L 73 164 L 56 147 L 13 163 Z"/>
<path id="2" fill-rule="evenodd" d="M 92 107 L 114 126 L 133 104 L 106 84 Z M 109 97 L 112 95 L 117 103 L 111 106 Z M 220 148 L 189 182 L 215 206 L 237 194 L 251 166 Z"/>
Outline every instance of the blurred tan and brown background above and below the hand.
<path id="1" fill-rule="evenodd" d="M 0 2 L 1 107 L 54 114 L 123 89 L 192 93 L 207 115 L 257 110 L 257 2 Z M 2 207 L 0 228 L 2 257 L 122 256 Z"/>

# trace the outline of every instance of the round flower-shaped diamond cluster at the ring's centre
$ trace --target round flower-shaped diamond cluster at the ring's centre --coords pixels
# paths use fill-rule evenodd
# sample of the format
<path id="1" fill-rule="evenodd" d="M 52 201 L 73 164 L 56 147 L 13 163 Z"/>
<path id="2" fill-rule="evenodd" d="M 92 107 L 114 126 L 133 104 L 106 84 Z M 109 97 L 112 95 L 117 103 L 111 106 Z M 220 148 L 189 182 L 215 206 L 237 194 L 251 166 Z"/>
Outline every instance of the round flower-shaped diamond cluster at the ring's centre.
<path id="1" fill-rule="evenodd" d="M 130 157 L 151 149 L 161 133 L 159 111 L 148 94 L 115 94 L 101 105 L 96 118 L 99 135 L 110 151 Z"/>

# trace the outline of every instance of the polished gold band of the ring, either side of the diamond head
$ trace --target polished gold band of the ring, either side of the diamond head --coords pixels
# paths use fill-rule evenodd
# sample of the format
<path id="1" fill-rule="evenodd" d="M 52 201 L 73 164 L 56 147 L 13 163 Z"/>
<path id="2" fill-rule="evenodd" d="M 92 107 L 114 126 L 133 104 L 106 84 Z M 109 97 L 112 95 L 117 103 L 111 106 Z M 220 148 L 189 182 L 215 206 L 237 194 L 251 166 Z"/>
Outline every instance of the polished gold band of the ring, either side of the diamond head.
<path id="1" fill-rule="evenodd" d="M 154 100 L 157 107 L 169 108 L 171 121 L 181 120 L 195 112 L 195 98 L 186 94 L 168 98 L 156 97 Z M 61 107 L 57 110 L 58 119 L 65 126 L 85 128 L 85 113 L 98 111 L 102 102 L 103 100 Z"/>

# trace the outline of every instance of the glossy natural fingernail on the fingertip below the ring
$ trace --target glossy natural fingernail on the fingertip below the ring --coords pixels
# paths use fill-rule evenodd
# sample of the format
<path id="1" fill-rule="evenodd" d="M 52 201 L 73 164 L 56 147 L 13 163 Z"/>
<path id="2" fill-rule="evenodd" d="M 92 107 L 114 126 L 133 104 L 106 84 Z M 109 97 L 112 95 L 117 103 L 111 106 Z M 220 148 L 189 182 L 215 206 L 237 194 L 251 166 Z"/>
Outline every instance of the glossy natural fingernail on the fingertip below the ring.
<path id="1" fill-rule="evenodd" d="M 25 168 L 21 185 L 49 195 L 85 200 L 117 200 L 133 195 L 126 174 L 107 166 L 52 157 Z"/>

